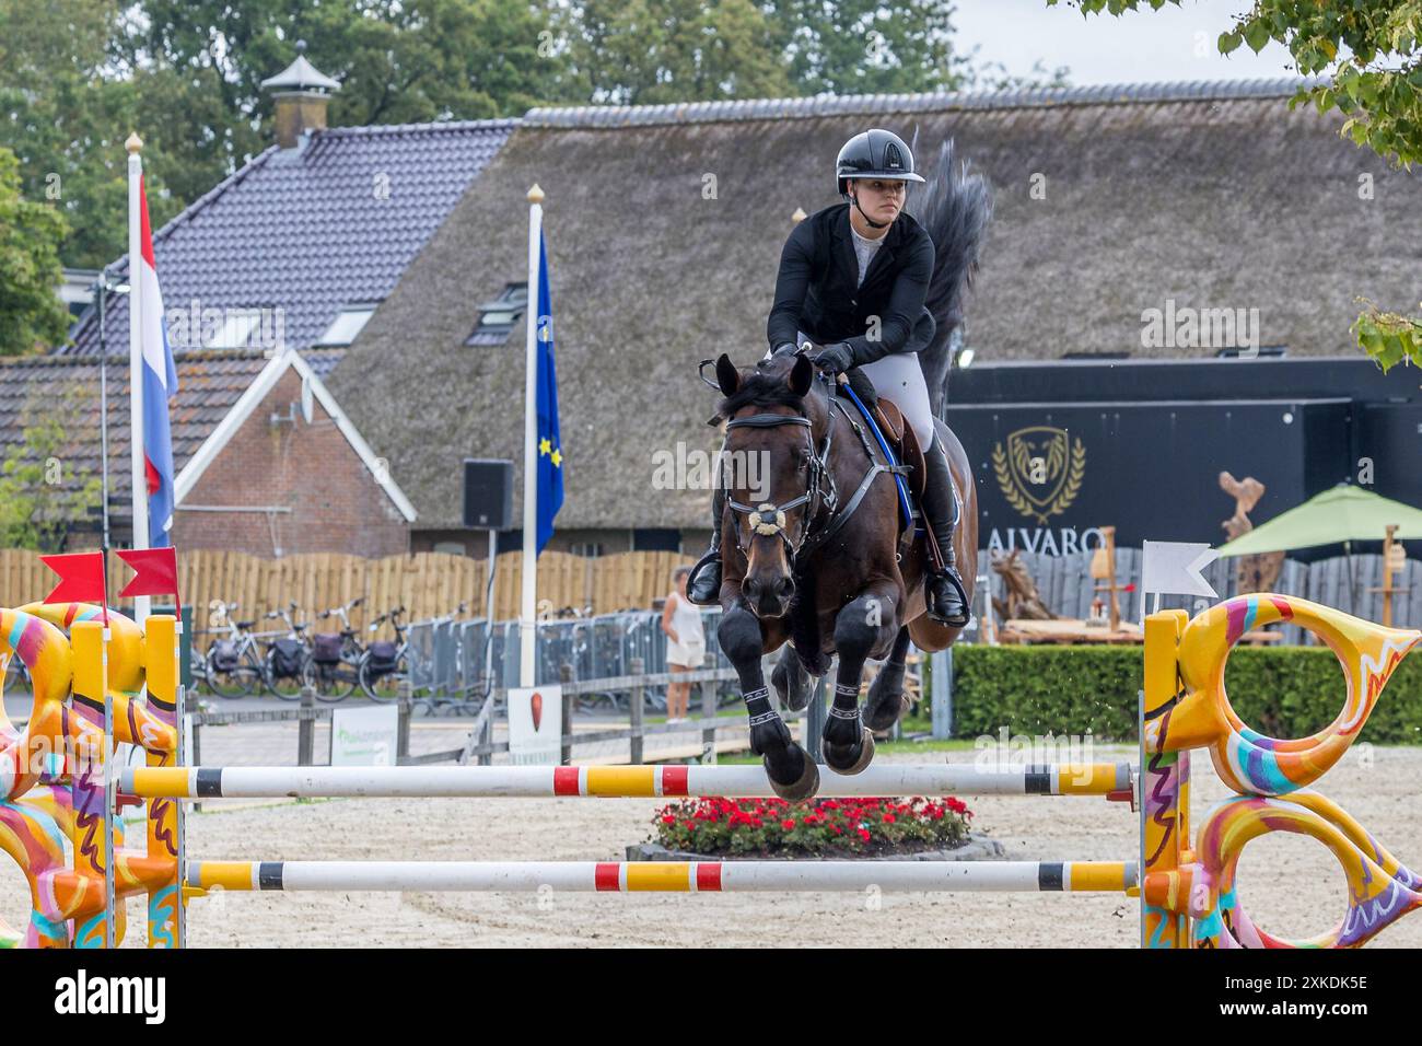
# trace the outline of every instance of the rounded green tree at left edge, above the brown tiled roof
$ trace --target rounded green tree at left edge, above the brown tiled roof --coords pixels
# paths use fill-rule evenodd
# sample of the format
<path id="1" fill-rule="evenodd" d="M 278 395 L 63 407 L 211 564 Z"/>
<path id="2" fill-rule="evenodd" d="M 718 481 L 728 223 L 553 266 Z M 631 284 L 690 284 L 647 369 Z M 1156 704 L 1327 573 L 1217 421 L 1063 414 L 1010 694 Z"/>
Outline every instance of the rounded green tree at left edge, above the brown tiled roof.
<path id="1" fill-rule="evenodd" d="M 0 356 L 23 356 L 64 340 L 70 315 L 64 279 L 64 216 L 20 195 L 20 165 L 0 147 Z"/>

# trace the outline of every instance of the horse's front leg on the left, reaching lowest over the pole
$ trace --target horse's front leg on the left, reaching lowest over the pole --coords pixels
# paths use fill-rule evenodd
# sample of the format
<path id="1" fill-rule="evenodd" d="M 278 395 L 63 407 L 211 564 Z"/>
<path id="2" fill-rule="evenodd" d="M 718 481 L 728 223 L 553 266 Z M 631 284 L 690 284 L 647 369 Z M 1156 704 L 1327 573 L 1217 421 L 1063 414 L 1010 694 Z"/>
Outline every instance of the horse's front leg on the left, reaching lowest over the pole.
<path id="1" fill-rule="evenodd" d="M 751 751 L 765 764 L 771 787 L 785 800 L 809 798 L 819 790 L 819 768 L 771 707 L 771 690 L 761 672 L 766 628 L 776 635 L 784 630 L 779 623 L 762 625 L 745 603 L 735 602 L 721 616 L 717 639 L 741 679 L 741 697 L 751 722 Z"/>

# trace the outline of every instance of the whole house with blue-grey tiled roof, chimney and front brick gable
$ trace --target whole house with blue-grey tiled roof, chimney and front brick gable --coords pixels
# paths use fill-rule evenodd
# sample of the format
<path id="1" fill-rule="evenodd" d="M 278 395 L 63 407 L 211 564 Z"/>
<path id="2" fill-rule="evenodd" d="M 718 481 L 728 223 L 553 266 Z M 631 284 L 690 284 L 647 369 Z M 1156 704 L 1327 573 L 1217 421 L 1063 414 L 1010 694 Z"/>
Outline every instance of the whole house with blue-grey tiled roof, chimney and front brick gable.
<path id="1" fill-rule="evenodd" d="M 276 142 L 154 233 L 179 389 L 173 544 L 263 556 L 405 552 L 415 511 L 323 379 L 518 121 L 327 128 L 340 87 L 304 57 L 264 87 Z M 127 259 L 107 273 L 122 282 Z M 104 306 L 50 356 L 0 364 L 0 453 L 24 441 L 23 403 L 64 384 L 77 474 L 97 475 L 107 354 L 109 491 L 121 512 L 111 535 L 124 546 L 128 297 L 111 292 Z M 98 522 L 95 504 L 73 521 L 71 544 L 97 539 Z"/>

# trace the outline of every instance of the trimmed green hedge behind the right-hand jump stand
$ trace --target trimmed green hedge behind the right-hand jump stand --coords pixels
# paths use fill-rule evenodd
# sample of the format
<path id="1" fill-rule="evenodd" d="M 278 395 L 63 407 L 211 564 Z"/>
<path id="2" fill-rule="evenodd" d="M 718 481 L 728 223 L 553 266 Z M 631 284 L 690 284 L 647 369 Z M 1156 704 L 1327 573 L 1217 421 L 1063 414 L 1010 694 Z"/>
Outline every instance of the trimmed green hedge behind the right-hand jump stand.
<path id="1" fill-rule="evenodd" d="M 1136 737 L 1139 646 L 956 646 L 953 733 L 957 737 L 1047 733 L 1099 740 Z M 1249 726 L 1273 737 L 1304 737 L 1342 707 L 1342 669 L 1322 648 L 1240 648 L 1224 685 Z M 1362 740 L 1422 743 L 1422 655 L 1392 675 Z"/>

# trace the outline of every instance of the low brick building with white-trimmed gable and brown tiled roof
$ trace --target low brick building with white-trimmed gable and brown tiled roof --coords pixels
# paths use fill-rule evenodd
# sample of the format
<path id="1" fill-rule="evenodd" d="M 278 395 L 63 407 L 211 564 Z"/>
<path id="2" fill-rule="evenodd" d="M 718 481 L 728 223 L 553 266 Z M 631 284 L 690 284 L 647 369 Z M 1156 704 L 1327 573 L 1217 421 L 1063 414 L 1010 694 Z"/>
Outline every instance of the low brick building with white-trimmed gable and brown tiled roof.
<path id="1" fill-rule="evenodd" d="M 100 366 L 75 357 L 0 361 L 0 455 L 23 457 L 26 430 L 41 417 L 63 430 L 63 441 L 44 453 L 58 465 L 51 492 L 64 502 L 70 548 L 102 537 Z M 115 545 L 131 532 L 127 370 L 108 367 Z M 414 507 L 300 353 L 185 353 L 178 389 L 171 417 L 179 549 L 263 558 L 407 549 Z"/>

